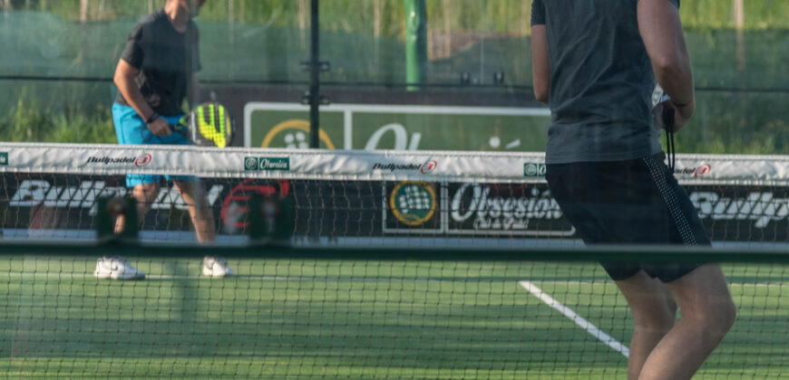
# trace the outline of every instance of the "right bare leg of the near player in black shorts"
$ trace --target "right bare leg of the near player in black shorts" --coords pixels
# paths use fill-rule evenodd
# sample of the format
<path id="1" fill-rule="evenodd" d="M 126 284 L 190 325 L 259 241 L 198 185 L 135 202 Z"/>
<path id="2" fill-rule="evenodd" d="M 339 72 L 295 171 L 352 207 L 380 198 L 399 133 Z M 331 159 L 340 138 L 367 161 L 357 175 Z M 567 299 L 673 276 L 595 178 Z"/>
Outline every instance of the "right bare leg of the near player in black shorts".
<path id="1" fill-rule="evenodd" d="M 682 318 L 649 354 L 638 379 L 689 379 L 735 322 L 736 308 L 718 264 L 667 283 Z"/>

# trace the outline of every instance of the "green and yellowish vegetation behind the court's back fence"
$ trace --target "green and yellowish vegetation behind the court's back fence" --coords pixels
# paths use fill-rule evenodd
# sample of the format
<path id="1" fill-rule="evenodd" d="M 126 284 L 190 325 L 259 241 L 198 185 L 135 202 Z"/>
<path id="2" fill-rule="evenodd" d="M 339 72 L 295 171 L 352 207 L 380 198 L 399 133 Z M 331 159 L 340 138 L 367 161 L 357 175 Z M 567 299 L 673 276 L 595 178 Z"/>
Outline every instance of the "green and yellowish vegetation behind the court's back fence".
<path id="1" fill-rule="evenodd" d="M 114 141 L 114 64 L 133 25 L 164 2 L 0 0 L 0 140 Z M 502 90 L 530 90 L 530 0 L 426 5 L 428 83 L 455 86 L 468 72 L 473 83 L 492 85 L 492 73 L 502 71 Z M 329 86 L 402 83 L 403 0 L 321 0 L 320 7 Z M 678 138 L 677 148 L 789 153 L 789 2 L 683 0 L 680 12 L 700 108 L 682 135 L 693 138 Z M 304 87 L 309 0 L 209 0 L 199 24 L 203 79 Z M 62 80 L 44 80 L 53 77 Z"/>

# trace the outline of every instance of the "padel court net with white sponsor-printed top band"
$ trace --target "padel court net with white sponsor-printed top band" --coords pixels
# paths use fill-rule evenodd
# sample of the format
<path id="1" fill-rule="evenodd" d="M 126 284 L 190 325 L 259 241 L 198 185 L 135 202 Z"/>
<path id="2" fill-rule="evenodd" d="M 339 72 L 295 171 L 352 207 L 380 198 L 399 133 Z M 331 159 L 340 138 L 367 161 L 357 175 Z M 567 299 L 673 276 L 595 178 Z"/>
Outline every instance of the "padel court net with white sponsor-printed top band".
<path id="1" fill-rule="evenodd" d="M 787 247 L 787 173 L 787 157 L 677 157 L 738 308 L 696 378 L 789 371 L 789 257 L 758 254 Z M 93 245 L 98 200 L 130 195 L 127 174 L 199 177 L 218 242 L 190 249 L 162 179 L 139 247 Z M 2 144 L 0 372 L 624 378 L 627 302 L 579 256 L 543 174 L 541 154 Z M 248 245 L 253 195 L 293 204 L 294 248 Z M 201 276 L 208 252 L 235 275 Z M 93 277 L 121 253 L 145 280 Z"/>

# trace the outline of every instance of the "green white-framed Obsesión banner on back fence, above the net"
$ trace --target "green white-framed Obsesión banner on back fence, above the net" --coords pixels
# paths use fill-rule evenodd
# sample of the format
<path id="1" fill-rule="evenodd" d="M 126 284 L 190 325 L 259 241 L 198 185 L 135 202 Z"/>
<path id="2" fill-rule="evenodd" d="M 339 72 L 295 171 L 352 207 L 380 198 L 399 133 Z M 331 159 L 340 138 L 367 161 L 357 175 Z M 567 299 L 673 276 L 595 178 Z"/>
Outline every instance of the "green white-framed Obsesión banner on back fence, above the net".
<path id="1" fill-rule="evenodd" d="M 328 149 L 527 152 L 545 149 L 549 124 L 546 108 L 331 104 L 318 138 Z M 244 126 L 246 147 L 309 146 L 307 106 L 249 102 Z"/>

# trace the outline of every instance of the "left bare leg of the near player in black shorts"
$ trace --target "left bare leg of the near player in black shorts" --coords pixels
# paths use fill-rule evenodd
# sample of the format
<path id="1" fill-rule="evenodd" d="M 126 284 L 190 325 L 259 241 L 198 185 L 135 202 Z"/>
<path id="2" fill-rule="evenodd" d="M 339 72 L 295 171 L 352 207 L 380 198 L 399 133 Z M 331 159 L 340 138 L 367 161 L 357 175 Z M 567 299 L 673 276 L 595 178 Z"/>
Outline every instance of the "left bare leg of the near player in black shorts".
<path id="1" fill-rule="evenodd" d="M 628 300 L 635 322 L 633 337 L 630 339 L 628 380 L 636 380 L 649 353 L 674 327 L 677 302 L 666 284 L 650 278 L 645 271 L 616 282 Z"/>

